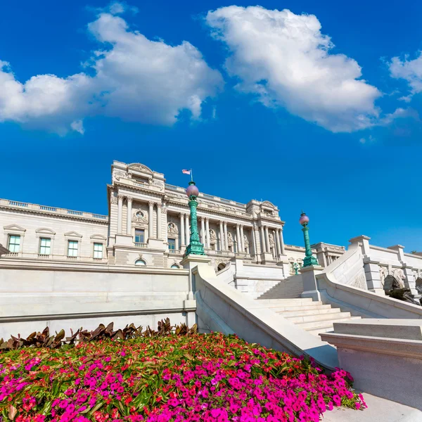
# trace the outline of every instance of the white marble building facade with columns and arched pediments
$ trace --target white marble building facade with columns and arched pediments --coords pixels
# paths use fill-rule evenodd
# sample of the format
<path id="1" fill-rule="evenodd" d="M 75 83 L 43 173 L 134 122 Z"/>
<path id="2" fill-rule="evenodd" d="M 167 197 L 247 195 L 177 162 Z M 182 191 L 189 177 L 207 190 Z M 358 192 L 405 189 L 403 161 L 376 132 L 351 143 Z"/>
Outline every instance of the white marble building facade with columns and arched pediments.
<path id="1" fill-rule="evenodd" d="M 185 188 L 166 184 L 164 174 L 146 165 L 118 161 L 107 187 L 108 215 L 1 199 L 0 243 L 11 251 L 4 258 L 77 262 L 79 267 L 181 267 L 190 233 Z M 216 269 L 235 257 L 285 267 L 290 274 L 293 263 L 301 265 L 304 248 L 284 244 L 284 222 L 269 201 L 243 204 L 200 193 L 198 203 L 200 239 Z M 326 265 L 321 245 L 325 250 L 327 245 L 316 245 Z"/>

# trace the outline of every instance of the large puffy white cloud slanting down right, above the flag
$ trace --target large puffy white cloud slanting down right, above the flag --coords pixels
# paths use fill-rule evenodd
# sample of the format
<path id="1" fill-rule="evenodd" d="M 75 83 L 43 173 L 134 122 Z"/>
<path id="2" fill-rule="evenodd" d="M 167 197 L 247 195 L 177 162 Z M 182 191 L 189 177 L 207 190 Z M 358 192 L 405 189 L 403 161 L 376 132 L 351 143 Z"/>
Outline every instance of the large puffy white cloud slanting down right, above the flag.
<path id="1" fill-rule="evenodd" d="M 330 53 L 333 44 L 316 16 L 229 6 L 208 12 L 206 22 L 229 49 L 225 66 L 240 79 L 238 89 L 264 105 L 285 107 L 332 132 L 376 124 L 380 91 L 359 79 L 355 60 Z"/>

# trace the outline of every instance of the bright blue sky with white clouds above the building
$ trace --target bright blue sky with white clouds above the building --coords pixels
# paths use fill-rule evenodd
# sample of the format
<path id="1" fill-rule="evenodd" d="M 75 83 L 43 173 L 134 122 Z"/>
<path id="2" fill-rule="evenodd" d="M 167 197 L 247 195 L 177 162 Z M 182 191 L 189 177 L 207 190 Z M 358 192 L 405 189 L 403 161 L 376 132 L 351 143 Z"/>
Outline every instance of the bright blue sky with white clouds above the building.
<path id="1" fill-rule="evenodd" d="M 422 4 L 259 5 L 6 2 L 0 197 L 106 214 L 113 160 L 193 167 L 286 243 L 303 208 L 313 242 L 422 250 Z"/>

